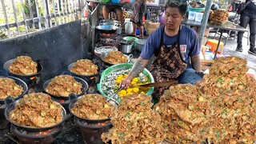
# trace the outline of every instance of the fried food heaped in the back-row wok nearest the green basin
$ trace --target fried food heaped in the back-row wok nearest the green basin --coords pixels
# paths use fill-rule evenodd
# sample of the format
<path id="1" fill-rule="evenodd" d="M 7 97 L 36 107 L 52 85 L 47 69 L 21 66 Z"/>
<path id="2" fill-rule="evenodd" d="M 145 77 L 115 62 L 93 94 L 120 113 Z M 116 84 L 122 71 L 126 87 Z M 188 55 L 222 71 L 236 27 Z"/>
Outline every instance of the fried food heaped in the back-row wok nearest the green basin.
<path id="1" fill-rule="evenodd" d="M 98 66 L 94 65 L 89 59 L 79 59 L 71 67 L 70 71 L 74 74 L 92 75 L 98 73 Z"/>

